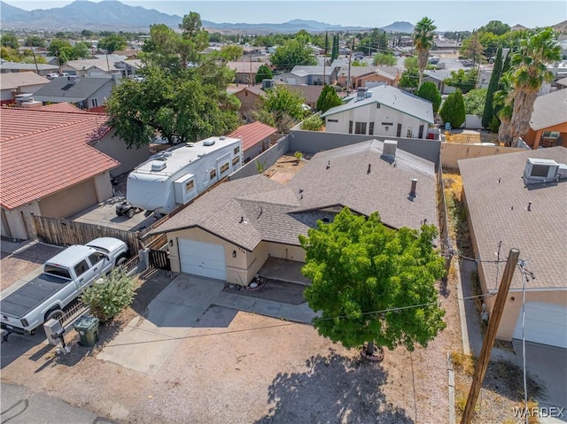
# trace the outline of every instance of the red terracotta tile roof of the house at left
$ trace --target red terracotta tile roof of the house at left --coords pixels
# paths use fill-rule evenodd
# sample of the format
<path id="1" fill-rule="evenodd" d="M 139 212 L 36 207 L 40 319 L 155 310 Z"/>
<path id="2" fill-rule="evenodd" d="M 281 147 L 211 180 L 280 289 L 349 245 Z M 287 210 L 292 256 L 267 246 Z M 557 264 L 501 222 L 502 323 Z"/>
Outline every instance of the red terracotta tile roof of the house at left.
<path id="1" fill-rule="evenodd" d="M 87 144 L 105 134 L 106 119 L 43 108 L 0 109 L 0 204 L 13 209 L 119 166 Z"/>

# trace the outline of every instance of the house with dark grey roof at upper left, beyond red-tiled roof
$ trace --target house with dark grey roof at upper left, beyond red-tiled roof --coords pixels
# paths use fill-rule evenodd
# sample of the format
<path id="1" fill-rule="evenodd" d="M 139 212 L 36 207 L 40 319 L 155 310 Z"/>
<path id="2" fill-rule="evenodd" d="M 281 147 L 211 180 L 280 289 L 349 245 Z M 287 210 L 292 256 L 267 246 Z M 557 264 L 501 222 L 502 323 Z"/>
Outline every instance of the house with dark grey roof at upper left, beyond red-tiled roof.
<path id="1" fill-rule="evenodd" d="M 34 99 L 43 103 L 70 103 L 81 109 L 97 108 L 105 104 L 117 81 L 110 77 L 54 78 L 49 84 L 35 91 Z"/>

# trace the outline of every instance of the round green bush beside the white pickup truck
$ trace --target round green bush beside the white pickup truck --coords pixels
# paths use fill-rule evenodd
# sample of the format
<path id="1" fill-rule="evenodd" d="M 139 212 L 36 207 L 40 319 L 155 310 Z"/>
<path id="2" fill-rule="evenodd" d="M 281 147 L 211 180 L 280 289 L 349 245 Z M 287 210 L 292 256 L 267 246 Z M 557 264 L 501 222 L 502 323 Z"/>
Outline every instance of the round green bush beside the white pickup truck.
<path id="1" fill-rule="evenodd" d="M 85 289 L 81 299 L 89 305 L 90 313 L 101 322 L 112 320 L 127 306 L 132 304 L 136 290 L 136 281 L 128 277 L 126 271 L 114 268 L 103 277 L 103 281 L 95 282 Z"/>

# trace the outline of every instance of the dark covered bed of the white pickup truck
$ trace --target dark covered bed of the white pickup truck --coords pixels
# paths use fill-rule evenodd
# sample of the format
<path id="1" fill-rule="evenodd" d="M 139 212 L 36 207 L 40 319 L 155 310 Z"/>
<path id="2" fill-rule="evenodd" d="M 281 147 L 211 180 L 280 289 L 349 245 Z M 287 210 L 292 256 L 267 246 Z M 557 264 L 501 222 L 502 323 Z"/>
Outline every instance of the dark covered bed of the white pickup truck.
<path id="1" fill-rule="evenodd" d="M 64 289 L 73 281 L 50 274 L 41 274 L 0 301 L 0 312 L 12 317 L 23 317 Z"/>

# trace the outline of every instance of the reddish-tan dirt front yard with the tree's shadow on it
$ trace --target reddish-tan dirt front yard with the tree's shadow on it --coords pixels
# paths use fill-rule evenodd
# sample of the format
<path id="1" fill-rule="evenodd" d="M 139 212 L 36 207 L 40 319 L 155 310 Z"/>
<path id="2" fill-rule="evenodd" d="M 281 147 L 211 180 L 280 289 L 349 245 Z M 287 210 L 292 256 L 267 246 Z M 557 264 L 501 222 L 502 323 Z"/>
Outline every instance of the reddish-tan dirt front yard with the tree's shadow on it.
<path id="1" fill-rule="evenodd" d="M 95 348 L 79 346 L 73 330 L 66 355 L 39 335 L 11 336 L 2 346 L 1 381 L 118 422 L 447 422 L 447 351 L 461 343 L 454 281 L 440 299 L 447 328 L 427 349 L 386 351 L 382 363 L 361 360 L 311 326 L 218 306 L 209 307 L 156 374 L 98 360 L 97 352 L 143 315 L 168 281 L 165 272 L 145 275 L 135 305 L 100 328 Z"/>

